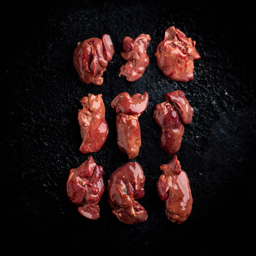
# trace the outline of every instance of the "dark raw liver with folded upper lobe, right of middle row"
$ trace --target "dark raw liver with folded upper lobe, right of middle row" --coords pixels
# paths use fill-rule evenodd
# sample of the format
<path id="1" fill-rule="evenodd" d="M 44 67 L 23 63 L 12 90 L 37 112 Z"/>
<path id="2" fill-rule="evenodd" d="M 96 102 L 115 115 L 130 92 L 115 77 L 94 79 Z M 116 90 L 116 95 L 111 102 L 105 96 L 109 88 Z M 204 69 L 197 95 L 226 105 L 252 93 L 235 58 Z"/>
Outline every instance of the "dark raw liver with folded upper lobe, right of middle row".
<path id="1" fill-rule="evenodd" d="M 192 122 L 193 112 L 193 107 L 180 90 L 166 93 L 165 101 L 155 106 L 154 120 L 161 127 L 159 144 L 163 151 L 170 155 L 179 151 L 184 124 Z"/>

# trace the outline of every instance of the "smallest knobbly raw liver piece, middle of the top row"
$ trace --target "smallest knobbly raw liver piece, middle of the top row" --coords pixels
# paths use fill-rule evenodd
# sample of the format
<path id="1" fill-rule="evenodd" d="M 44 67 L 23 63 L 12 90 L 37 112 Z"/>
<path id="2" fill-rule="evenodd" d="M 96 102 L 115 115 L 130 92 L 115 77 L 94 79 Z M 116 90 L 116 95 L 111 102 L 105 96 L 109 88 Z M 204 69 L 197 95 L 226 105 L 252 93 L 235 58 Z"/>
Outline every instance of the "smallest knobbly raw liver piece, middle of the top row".
<path id="1" fill-rule="evenodd" d="M 126 60 L 125 65 L 120 68 L 119 76 L 125 76 L 127 81 L 138 80 L 149 65 L 149 56 L 146 50 L 149 46 L 150 35 L 141 34 L 132 40 L 131 37 L 125 37 L 122 41 L 122 58 Z"/>

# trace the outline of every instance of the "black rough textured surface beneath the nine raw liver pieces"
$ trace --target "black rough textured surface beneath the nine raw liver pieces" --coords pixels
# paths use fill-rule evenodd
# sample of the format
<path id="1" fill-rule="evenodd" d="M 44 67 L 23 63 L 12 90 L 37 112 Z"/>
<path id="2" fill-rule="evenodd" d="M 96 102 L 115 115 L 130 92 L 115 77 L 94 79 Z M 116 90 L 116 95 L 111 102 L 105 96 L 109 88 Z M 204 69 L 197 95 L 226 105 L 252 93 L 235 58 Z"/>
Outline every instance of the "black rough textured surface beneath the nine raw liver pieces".
<path id="1" fill-rule="evenodd" d="M 37 252 L 52 245 L 61 249 L 104 248 L 125 254 L 153 248 L 195 250 L 204 255 L 250 244 L 255 218 L 255 64 L 252 8 L 243 2 L 221 5 L 210 1 L 34 1 L 10 2 L 2 20 L 1 157 L 5 243 L 19 251 L 32 244 Z M 194 61 L 192 81 L 173 82 L 159 70 L 154 53 L 170 26 L 196 41 L 201 59 Z M 78 41 L 111 36 L 115 55 L 101 86 L 80 82 L 72 64 Z M 125 36 L 149 33 L 150 64 L 142 78 L 118 77 L 124 64 Z M 159 148 L 154 107 L 165 93 L 183 90 L 194 107 L 185 126 L 178 159 L 193 194 L 193 210 L 181 224 L 171 223 L 156 193 L 159 166 L 171 156 Z M 106 193 L 100 219 L 80 215 L 66 193 L 71 168 L 92 155 L 104 168 L 104 181 L 127 162 L 116 144 L 115 111 L 111 100 L 120 92 L 149 94 L 139 117 L 142 146 L 137 161 L 145 173 L 147 221 L 121 223 L 111 213 Z M 102 93 L 109 135 L 97 153 L 82 155 L 77 111 L 88 93 Z M 12 99 L 12 101 L 11 101 Z M 10 159 L 9 156 L 12 158 Z M 13 246 L 21 242 L 19 247 Z M 205 249 L 207 248 L 207 249 Z M 136 255 L 136 254 L 135 254 Z"/>

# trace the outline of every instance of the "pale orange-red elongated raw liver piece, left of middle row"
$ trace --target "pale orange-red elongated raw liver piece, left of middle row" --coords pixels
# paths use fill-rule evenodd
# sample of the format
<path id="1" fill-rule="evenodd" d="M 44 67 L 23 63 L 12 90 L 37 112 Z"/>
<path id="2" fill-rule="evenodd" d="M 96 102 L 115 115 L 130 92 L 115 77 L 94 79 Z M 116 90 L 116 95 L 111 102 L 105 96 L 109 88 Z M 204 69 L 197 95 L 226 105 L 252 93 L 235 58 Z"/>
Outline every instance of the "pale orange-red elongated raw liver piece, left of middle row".
<path id="1" fill-rule="evenodd" d="M 105 120 L 105 105 L 102 95 L 90 94 L 80 100 L 83 108 L 78 110 L 82 144 L 80 151 L 83 154 L 97 152 L 107 139 L 109 127 Z"/>

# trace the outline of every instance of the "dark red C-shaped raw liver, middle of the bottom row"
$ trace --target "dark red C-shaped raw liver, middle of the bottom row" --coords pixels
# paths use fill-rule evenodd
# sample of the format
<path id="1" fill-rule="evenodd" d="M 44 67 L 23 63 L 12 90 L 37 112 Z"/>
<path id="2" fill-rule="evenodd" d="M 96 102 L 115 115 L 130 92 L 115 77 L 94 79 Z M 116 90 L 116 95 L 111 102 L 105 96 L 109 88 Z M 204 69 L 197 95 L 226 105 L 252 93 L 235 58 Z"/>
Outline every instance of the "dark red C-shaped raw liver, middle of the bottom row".
<path id="1" fill-rule="evenodd" d="M 107 186 L 108 201 L 117 218 L 126 224 L 137 224 L 147 219 L 147 211 L 135 199 L 143 198 L 145 176 L 136 162 L 116 169 Z"/>

